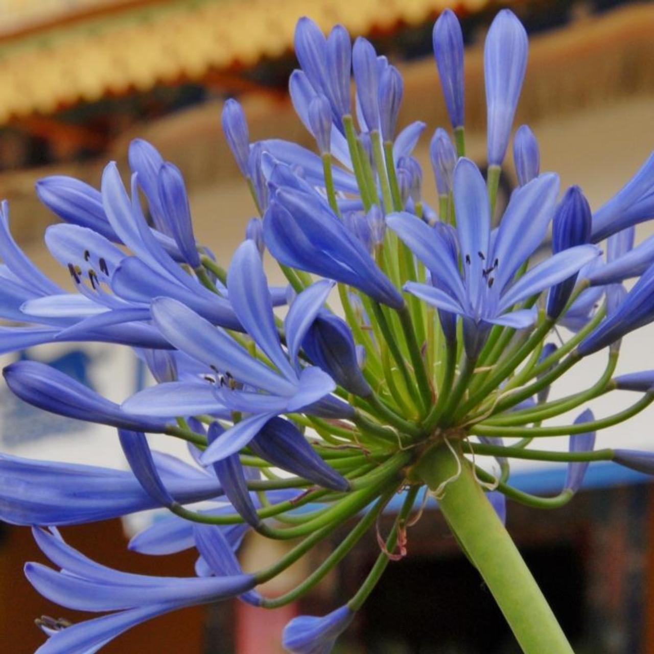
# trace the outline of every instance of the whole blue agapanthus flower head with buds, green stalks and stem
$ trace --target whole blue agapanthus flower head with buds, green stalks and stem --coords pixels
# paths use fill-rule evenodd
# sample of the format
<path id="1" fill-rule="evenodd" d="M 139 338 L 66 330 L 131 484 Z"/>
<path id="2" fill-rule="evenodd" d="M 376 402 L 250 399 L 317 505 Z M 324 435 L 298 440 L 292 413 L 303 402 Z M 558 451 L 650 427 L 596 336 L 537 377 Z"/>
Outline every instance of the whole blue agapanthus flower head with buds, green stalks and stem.
<path id="1" fill-rule="evenodd" d="M 73 292 L 18 247 L 0 203 L 0 317 L 10 321 L 0 326 L 0 353 L 120 343 L 154 378 L 117 404 L 46 364 L 7 366 L 19 398 L 118 428 L 128 469 L 0 455 L 0 518 L 73 525 L 157 508 L 166 515 L 129 547 L 158 556 L 196 550 L 195 577 L 147 577 L 96 564 L 55 528 L 35 528 L 58 570 L 28 564 L 33 585 L 63 606 L 110 612 L 76 625 L 43 619 L 48 641 L 39 651 L 89 654 L 146 619 L 201 602 L 235 597 L 271 609 L 294 601 L 399 494 L 402 506 L 385 541 L 378 530 L 379 557 L 360 589 L 332 613 L 298 617 L 284 630 L 289 651 L 328 654 L 385 566 L 410 551 L 419 493 L 428 491 L 519 642 L 569 650 L 545 601 L 529 604 L 533 581 L 502 529 L 506 498 L 564 504 L 594 460 L 654 474 L 651 453 L 594 450 L 596 432 L 654 402 L 651 371 L 613 377 L 621 339 L 654 321 L 654 237 L 634 241 L 634 224 L 653 215 L 654 167 L 648 160 L 591 220 L 578 187 L 559 199 L 559 177 L 540 173 L 538 144 L 523 126 L 513 144 L 519 187 L 494 211 L 525 75 L 525 30 L 503 10 L 487 37 L 487 179 L 459 156 L 463 41 L 450 11 L 434 27 L 434 50 L 456 141 L 455 149 L 437 129 L 430 143 L 436 209 L 423 198 L 413 156 L 425 124 L 396 126 L 399 71 L 366 39 L 353 46 L 342 26 L 325 36 L 308 18 L 296 29 L 301 69 L 289 90 L 318 152 L 281 139 L 250 143 L 243 108 L 235 100 L 224 107 L 226 139 L 260 216 L 231 259 L 196 241 L 181 171 L 140 139 L 129 146 L 129 190 L 115 163 L 99 190 L 67 177 L 37 184 L 65 220 L 45 240 Z M 606 247 L 592 244 L 604 237 Z M 284 286 L 268 283 L 275 265 Z M 549 399 L 560 377 L 604 349 L 606 368 L 593 385 Z M 637 394 L 636 402 L 608 417 L 585 410 L 560 422 L 615 389 Z M 188 462 L 151 449 L 147 434 L 185 439 Z M 550 436 L 567 436 L 568 450 L 547 451 Z M 559 495 L 513 488 L 514 458 L 567 464 Z M 471 519 L 478 530 L 468 528 Z M 246 574 L 236 550 L 249 530 L 297 544 Z M 256 589 L 332 534 L 344 536 L 296 589 L 275 598 Z M 505 604 L 506 587 L 522 599 Z M 516 619 L 527 604 L 528 619 Z M 532 632 L 543 625 L 544 640 Z"/>

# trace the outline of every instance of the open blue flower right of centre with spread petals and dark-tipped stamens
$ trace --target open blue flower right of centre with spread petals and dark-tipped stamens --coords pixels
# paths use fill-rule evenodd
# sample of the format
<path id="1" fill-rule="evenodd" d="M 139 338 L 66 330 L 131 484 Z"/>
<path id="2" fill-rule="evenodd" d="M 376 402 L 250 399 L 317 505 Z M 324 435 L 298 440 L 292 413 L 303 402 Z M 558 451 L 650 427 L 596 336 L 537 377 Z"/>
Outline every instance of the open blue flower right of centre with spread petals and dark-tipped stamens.
<path id="1" fill-rule="evenodd" d="M 388 226 L 439 284 L 437 287 L 409 282 L 405 290 L 464 318 L 466 351 L 471 358 L 478 354 L 492 324 L 517 329 L 533 324 L 536 313 L 531 309 L 512 310 L 517 303 L 567 279 L 598 256 L 592 245 L 570 248 L 513 281 L 515 272 L 533 254 L 547 231 L 558 190 L 559 179 L 552 174 L 541 175 L 515 190 L 491 240 L 486 184 L 474 163 L 460 159 L 455 169 L 454 198 L 463 279 L 456 258 L 440 233 L 415 216 L 388 216 Z"/>

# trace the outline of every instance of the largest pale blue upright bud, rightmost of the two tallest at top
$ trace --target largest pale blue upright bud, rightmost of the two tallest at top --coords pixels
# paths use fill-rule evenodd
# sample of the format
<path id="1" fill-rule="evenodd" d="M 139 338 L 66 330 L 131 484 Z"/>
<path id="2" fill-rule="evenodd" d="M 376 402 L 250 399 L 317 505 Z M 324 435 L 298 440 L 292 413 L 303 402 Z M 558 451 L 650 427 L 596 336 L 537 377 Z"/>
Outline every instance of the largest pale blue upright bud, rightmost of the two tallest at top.
<path id="1" fill-rule="evenodd" d="M 525 79 L 527 50 L 525 27 L 511 10 L 502 9 L 490 26 L 484 46 L 489 165 L 504 161 Z"/>

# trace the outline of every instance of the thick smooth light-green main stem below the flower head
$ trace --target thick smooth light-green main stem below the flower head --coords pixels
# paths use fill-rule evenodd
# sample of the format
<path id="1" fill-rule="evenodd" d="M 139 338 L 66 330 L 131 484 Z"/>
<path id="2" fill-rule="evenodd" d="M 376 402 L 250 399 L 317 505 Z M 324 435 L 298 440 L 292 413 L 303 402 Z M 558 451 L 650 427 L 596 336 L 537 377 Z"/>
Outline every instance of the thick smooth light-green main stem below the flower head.
<path id="1" fill-rule="evenodd" d="M 573 654 L 547 600 L 460 450 L 455 454 L 446 445 L 438 445 L 422 457 L 416 472 L 430 489 L 441 491 L 443 516 L 479 570 L 523 652 Z"/>

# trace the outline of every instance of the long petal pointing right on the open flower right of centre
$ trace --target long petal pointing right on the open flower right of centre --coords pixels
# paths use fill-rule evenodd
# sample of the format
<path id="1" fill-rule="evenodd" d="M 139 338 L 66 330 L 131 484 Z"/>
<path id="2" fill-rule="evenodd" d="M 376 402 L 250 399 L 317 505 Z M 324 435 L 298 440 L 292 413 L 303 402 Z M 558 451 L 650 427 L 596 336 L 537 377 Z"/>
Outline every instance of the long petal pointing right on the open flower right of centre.
<path id="1" fill-rule="evenodd" d="M 540 293 L 545 288 L 568 279 L 570 275 L 574 275 L 579 268 L 600 254 L 601 250 L 594 245 L 577 245 L 551 256 L 509 286 L 500 300 L 498 311 L 502 313 L 530 295 Z"/>

